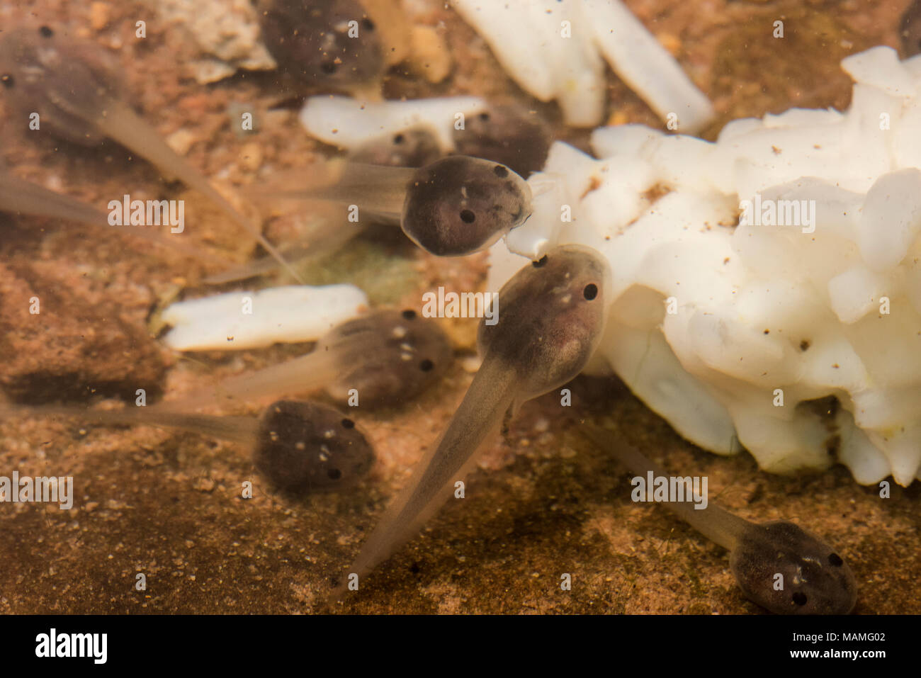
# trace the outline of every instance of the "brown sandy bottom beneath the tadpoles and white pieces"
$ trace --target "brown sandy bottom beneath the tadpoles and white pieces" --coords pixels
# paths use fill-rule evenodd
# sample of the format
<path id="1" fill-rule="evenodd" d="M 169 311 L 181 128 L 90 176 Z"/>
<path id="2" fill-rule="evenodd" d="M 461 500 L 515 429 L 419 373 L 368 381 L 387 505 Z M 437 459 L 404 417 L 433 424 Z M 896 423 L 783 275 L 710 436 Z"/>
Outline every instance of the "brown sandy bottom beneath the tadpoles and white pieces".
<path id="1" fill-rule="evenodd" d="M 791 105 L 843 107 L 849 83 L 838 61 L 874 44 L 897 44 L 905 0 L 747 3 L 631 0 L 647 26 L 671 45 L 722 120 Z M 3 26 L 34 12 L 56 27 L 89 25 L 99 4 L 42 0 L 0 5 Z M 106 4 L 103 4 L 106 5 Z M 119 53 L 135 103 L 163 134 L 183 128 L 196 143 L 189 159 L 229 184 L 301 164 L 318 146 L 294 111 L 274 114 L 239 139 L 228 105 L 275 99 L 271 77 L 239 76 L 210 88 L 176 64 L 192 58 L 181 30 L 149 22 L 133 40 L 132 4 L 107 5 L 109 24 L 86 29 Z M 786 17 L 787 42 L 770 25 Z M 472 92 L 518 100 L 545 116 L 560 138 L 585 146 L 587 133 L 559 128 L 553 105 L 534 102 L 504 76 L 484 43 L 449 10 L 443 20 L 455 71 L 438 86 L 399 74 L 389 97 Z M 659 125 L 647 107 L 610 77 L 612 118 Z M 711 131 L 711 135 L 715 130 Z M 3 157 L 17 174 L 56 181 L 86 200 L 185 197 L 189 240 L 233 249 L 251 241 L 214 215 L 204 199 L 179 195 L 157 170 L 114 144 L 91 150 L 27 135 L 4 118 Z M 251 158 L 257 144 L 260 162 Z M 253 165 L 261 169 L 253 169 Z M 134 389 L 171 394 L 215 375 L 260 367 L 304 346 L 227 356 L 172 356 L 149 335 L 151 310 L 193 286 L 199 264 L 109 231 L 0 216 L 2 306 L 0 382 L 18 400 L 50 396 L 87 403 L 99 395 L 134 400 Z M 281 238 L 286 229 L 270 232 Z M 366 248 L 362 250 L 361 248 Z M 367 268 L 389 262 L 372 296 L 418 306 L 438 285 L 482 281 L 484 258 L 437 261 L 400 240 L 372 239 Z M 364 256 L 364 255 L 363 255 Z M 347 259 L 347 257 L 346 257 Z M 341 263 L 341 260 L 339 260 Z M 339 265 L 339 264 L 337 264 Z M 345 268 L 348 268 L 346 265 Z M 407 273 L 408 272 L 408 273 Z M 334 277 L 336 269 L 327 272 Z M 367 274 L 366 274 L 367 275 Z M 393 277 L 400 275 L 399 284 Z M 375 285 L 373 276 L 368 278 Z M 29 297 L 42 298 L 29 316 Z M 451 328 L 469 353 L 473 324 Z M 0 424 L 0 474 L 73 475 L 75 508 L 0 505 L 0 612 L 3 613 L 309 613 L 327 610 L 322 594 L 341 574 L 412 464 L 437 438 L 471 375 L 460 361 L 423 397 L 400 409 L 355 412 L 379 452 L 362 485 L 347 493 L 292 499 L 274 494 L 239 446 L 151 427 L 89 427 L 29 418 Z M 921 578 L 918 484 L 880 499 L 842 467 L 785 478 L 760 472 L 748 454 L 720 458 L 682 441 L 616 380 L 579 379 L 572 408 L 554 396 L 527 403 L 504 439 L 484 453 L 466 498 L 453 500 L 425 532 L 380 567 L 367 588 L 337 609 L 358 613 L 759 613 L 735 587 L 727 554 L 657 507 L 629 500 L 628 476 L 610 454 L 575 433 L 579 416 L 605 419 L 673 472 L 709 477 L 711 496 L 756 520 L 789 518 L 836 544 L 861 584 L 857 612 L 918 613 Z M 95 394 L 95 395 L 94 395 Z M 245 480 L 252 499 L 240 498 Z M 135 590 L 144 573 L 146 591 Z M 560 589 L 564 573 L 572 591 Z"/>

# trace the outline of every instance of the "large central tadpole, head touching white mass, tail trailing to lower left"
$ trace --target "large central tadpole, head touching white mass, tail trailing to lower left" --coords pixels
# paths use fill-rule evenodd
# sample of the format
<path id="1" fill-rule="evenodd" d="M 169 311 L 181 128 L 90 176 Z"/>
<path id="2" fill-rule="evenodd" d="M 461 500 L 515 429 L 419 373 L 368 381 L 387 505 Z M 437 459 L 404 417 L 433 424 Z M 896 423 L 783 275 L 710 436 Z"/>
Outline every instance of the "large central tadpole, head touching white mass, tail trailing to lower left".
<path id="1" fill-rule="evenodd" d="M 596 251 L 564 245 L 527 265 L 499 292 L 495 325 L 480 326 L 483 364 L 444 435 L 362 546 L 349 573 L 377 566 L 453 493 L 474 453 L 519 405 L 573 379 L 594 353 L 611 272 Z M 338 595 L 337 590 L 333 595 Z"/>

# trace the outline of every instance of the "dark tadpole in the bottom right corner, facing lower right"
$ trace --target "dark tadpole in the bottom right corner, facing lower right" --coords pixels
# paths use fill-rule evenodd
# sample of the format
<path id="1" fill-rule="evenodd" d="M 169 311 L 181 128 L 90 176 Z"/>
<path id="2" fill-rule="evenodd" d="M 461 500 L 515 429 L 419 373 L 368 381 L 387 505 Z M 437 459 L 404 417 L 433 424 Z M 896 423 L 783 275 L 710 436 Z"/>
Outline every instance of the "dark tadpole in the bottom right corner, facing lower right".
<path id="1" fill-rule="evenodd" d="M 583 432 L 631 473 L 668 477 L 639 450 L 610 432 L 586 424 Z M 821 537 L 789 520 L 755 523 L 715 503 L 695 509 L 691 500 L 663 505 L 707 539 L 729 551 L 729 568 L 752 602 L 776 614 L 847 614 L 857 602 L 857 579 Z"/>

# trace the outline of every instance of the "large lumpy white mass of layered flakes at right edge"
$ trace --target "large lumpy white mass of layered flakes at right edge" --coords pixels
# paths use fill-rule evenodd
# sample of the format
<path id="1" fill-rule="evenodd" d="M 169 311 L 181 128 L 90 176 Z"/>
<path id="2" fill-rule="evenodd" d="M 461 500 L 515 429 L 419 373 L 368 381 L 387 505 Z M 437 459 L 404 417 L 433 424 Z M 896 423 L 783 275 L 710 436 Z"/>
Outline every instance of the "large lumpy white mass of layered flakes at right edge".
<path id="1" fill-rule="evenodd" d="M 745 448 L 775 473 L 836 459 L 859 483 L 908 485 L 921 477 L 921 60 L 874 48 L 843 65 L 847 111 L 736 121 L 716 143 L 603 128 L 601 159 L 554 144 L 487 287 L 521 256 L 594 247 L 613 293 L 591 370 L 612 368 L 707 450 Z M 808 403 L 832 396 L 834 417 Z"/>

